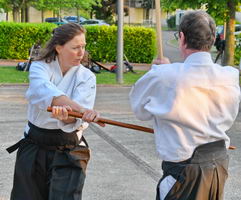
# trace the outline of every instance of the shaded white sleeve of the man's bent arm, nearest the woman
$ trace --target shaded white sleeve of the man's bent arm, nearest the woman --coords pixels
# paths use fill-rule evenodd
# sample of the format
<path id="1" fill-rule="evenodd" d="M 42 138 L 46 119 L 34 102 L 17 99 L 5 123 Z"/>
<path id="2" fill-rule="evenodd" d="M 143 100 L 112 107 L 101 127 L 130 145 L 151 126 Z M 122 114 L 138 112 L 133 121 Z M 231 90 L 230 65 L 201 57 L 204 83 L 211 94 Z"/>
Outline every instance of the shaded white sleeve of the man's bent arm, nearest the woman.
<path id="1" fill-rule="evenodd" d="M 157 85 L 156 81 L 155 72 L 150 70 L 131 89 L 129 94 L 131 108 L 140 120 L 151 120 L 153 117 L 147 107 L 153 99 L 153 87 Z"/>

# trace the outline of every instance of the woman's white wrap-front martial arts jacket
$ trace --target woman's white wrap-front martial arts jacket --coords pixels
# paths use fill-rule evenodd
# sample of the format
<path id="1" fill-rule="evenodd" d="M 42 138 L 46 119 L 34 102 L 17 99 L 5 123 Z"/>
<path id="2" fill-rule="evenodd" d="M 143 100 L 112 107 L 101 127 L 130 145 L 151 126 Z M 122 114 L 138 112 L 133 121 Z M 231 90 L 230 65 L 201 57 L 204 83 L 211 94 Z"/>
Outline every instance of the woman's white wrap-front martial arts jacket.
<path id="1" fill-rule="evenodd" d="M 51 105 L 53 97 L 66 95 L 79 105 L 92 109 L 96 95 L 95 75 L 87 68 L 74 66 L 63 76 L 58 59 L 51 63 L 35 61 L 29 71 L 29 88 L 26 92 L 28 104 L 28 120 L 45 129 L 62 129 L 72 132 L 76 129 L 84 130 L 88 123 L 77 119 L 76 123 L 65 124 L 51 118 L 47 107 Z M 29 127 L 26 126 L 26 132 Z"/>

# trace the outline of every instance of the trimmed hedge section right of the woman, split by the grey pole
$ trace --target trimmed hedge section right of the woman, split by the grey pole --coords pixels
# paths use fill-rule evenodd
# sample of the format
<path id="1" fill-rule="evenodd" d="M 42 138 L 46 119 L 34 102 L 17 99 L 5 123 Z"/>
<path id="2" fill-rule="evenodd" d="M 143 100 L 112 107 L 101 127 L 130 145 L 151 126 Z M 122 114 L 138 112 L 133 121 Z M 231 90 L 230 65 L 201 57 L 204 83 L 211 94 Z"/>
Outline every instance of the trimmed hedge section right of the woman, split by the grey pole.
<path id="1" fill-rule="evenodd" d="M 116 26 L 86 26 L 87 50 L 93 59 L 115 62 Z M 130 62 L 150 63 L 155 56 L 155 31 L 144 27 L 124 27 L 124 54 Z"/>

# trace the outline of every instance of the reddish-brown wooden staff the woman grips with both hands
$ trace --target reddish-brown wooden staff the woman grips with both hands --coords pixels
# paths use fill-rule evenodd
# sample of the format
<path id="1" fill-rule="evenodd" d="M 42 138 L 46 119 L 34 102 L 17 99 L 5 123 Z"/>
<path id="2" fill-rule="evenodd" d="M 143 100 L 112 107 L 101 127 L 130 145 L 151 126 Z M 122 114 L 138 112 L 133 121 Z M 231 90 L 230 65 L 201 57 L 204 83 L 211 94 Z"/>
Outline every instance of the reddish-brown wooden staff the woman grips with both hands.
<path id="1" fill-rule="evenodd" d="M 52 108 L 48 107 L 47 111 L 52 112 Z M 69 114 L 69 116 L 76 117 L 76 118 L 83 117 L 83 113 L 79 113 L 79 112 L 68 111 L 68 114 Z M 101 123 L 110 124 L 110 125 L 114 125 L 114 126 L 130 128 L 130 129 L 134 129 L 134 130 L 138 130 L 138 131 L 144 131 L 147 133 L 154 133 L 154 130 L 151 128 L 146 128 L 146 127 L 138 126 L 138 125 L 134 125 L 134 124 L 127 124 L 127 123 L 109 120 L 109 119 L 105 119 L 105 118 L 99 118 L 98 121 Z"/>

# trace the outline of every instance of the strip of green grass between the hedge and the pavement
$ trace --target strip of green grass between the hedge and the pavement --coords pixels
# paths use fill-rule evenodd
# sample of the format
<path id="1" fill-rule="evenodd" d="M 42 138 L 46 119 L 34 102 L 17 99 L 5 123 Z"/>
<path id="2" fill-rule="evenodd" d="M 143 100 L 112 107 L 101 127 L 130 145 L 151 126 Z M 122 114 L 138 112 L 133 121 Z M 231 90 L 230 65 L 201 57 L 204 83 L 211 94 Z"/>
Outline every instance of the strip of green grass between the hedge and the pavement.
<path id="1" fill-rule="evenodd" d="M 131 72 L 124 73 L 124 85 L 134 84 L 145 71 L 137 71 L 136 74 Z M 96 74 L 97 84 L 117 84 L 116 74 L 102 70 L 101 73 Z M 28 72 L 22 72 L 15 69 L 15 67 L 0 67 L 0 83 L 28 83 Z"/>

